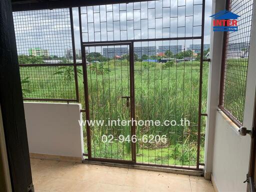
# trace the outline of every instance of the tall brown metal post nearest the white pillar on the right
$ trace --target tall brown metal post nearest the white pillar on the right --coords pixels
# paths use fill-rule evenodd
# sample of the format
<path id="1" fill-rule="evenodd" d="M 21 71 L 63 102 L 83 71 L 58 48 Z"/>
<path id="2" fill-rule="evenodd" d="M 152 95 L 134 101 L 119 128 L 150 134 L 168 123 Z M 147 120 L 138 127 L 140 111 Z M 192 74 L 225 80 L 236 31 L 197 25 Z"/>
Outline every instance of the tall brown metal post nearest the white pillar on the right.
<path id="1" fill-rule="evenodd" d="M 200 77 L 199 77 L 199 105 L 198 105 L 198 127 L 197 127 L 197 155 L 196 155 L 196 168 L 199 169 L 200 158 L 200 130 L 201 130 L 201 100 L 202 100 L 202 60 L 203 60 L 203 38 L 204 38 L 204 8 L 205 0 L 202 0 L 202 21 L 201 21 L 201 48 L 200 48 Z"/>

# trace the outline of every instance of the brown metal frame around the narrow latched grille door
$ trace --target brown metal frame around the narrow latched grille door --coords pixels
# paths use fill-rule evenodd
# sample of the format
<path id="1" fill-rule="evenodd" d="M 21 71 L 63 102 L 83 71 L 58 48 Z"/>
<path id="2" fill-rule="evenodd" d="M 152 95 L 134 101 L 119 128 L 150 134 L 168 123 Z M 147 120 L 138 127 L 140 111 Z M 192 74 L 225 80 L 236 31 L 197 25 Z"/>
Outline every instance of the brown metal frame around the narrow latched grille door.
<path id="1" fill-rule="evenodd" d="M 110 158 L 98 158 L 91 156 L 91 137 L 90 137 L 90 126 L 88 125 L 87 120 L 90 120 L 89 116 L 89 100 L 88 100 L 88 77 L 87 77 L 87 65 L 86 65 L 86 54 L 85 47 L 90 46 L 114 46 L 114 45 L 128 45 L 129 46 L 129 83 L 130 83 L 130 120 L 135 119 L 135 99 L 134 99 L 134 62 L 133 62 L 133 42 L 115 42 L 115 43 L 82 43 L 82 73 L 83 73 L 83 84 L 84 84 L 84 101 L 85 109 L 82 109 L 81 112 L 85 112 L 86 115 L 86 135 L 87 135 L 87 150 L 88 156 L 87 160 L 94 161 L 104 161 L 104 162 L 118 162 L 118 163 L 127 163 L 133 164 L 136 162 L 136 143 L 131 142 L 131 160 L 124 159 L 110 159 Z M 135 134 L 135 126 L 130 125 L 130 134 Z"/>

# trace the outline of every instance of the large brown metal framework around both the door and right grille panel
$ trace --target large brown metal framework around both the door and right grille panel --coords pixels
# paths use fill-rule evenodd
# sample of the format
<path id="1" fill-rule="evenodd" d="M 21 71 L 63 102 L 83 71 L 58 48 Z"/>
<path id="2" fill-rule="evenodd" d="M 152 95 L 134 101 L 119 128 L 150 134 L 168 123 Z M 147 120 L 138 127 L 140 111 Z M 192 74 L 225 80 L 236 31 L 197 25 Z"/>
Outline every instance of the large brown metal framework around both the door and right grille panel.
<path id="1" fill-rule="evenodd" d="M 194 39 L 200 39 L 200 44 L 201 44 L 201 47 L 200 47 L 200 64 L 199 64 L 199 95 L 198 95 L 198 124 L 197 124 L 197 151 L 196 151 L 196 165 L 195 167 L 185 167 L 185 166 L 177 166 L 177 165 L 162 165 L 162 164 L 144 164 L 144 163 L 138 163 L 136 162 L 136 145 L 135 143 L 132 143 L 132 161 L 126 161 L 126 160 L 118 160 L 116 161 L 117 163 L 124 163 L 124 164 L 136 164 L 136 165 L 143 165 L 143 166 L 146 166 L 146 165 L 150 165 L 150 166 L 157 166 L 157 167 L 168 167 L 168 168 L 182 168 L 182 169 L 190 169 L 190 170 L 202 170 L 202 168 L 200 167 L 201 165 L 204 165 L 204 163 L 200 163 L 199 161 L 199 156 L 200 156 L 200 137 L 201 137 L 201 117 L 202 116 L 207 116 L 206 113 L 202 113 L 201 111 L 201 97 L 202 97 L 202 63 L 203 61 L 209 61 L 209 59 L 203 59 L 203 43 L 204 43 L 204 14 L 205 14 L 205 0 L 202 0 L 202 15 L 201 15 L 201 34 L 198 35 L 198 36 L 182 36 L 182 37 L 162 37 L 162 38 L 146 38 L 146 39 L 126 39 L 126 40 L 100 40 L 100 41 L 83 41 L 82 39 L 82 22 L 81 22 L 81 9 L 80 9 L 80 6 L 78 6 L 78 17 L 79 17 L 79 28 L 80 28 L 80 44 L 81 44 L 81 53 L 82 53 L 82 63 L 85 63 L 86 61 L 84 60 L 85 58 L 85 49 L 84 49 L 84 45 L 87 45 L 87 46 L 93 46 L 95 44 L 103 44 L 103 45 L 106 45 L 106 44 L 121 44 L 121 43 L 130 43 L 131 44 L 131 48 L 130 48 L 130 55 L 132 55 L 132 57 L 130 58 L 130 61 L 132 60 L 132 65 L 130 66 L 130 70 L 132 70 L 132 104 L 133 104 L 133 107 L 132 107 L 132 115 L 133 116 L 133 119 L 135 119 L 135 102 L 134 102 L 134 58 L 133 58 L 133 43 L 134 42 L 142 42 L 142 41 L 162 41 L 162 40 L 194 40 Z M 132 53 L 131 53 L 131 50 L 132 50 Z M 86 71 L 86 68 L 84 69 L 84 64 L 83 65 L 83 73 L 84 71 Z M 86 67 L 86 64 L 85 64 L 85 67 Z M 131 74 L 131 73 L 130 73 Z M 87 74 L 86 75 L 86 78 L 87 79 Z M 85 87 L 86 85 L 86 87 Z M 87 92 L 87 82 L 84 82 L 84 96 L 86 97 L 85 93 Z M 88 102 L 87 100 L 88 98 L 85 98 L 85 106 L 86 108 L 88 108 Z M 81 110 L 83 112 L 85 112 L 86 110 Z M 86 117 L 87 118 L 87 117 Z M 132 134 L 136 134 L 136 131 L 135 131 L 135 127 L 132 127 Z M 84 159 L 86 161 L 88 160 L 92 160 L 91 158 L 91 151 L 90 151 L 90 140 L 88 139 L 88 135 L 87 135 L 87 146 L 88 146 L 88 154 L 84 154 L 84 156 L 88 156 L 88 159 Z M 94 161 L 101 161 L 103 159 L 99 158 L 99 159 L 95 159 L 93 158 Z M 107 162 L 107 160 L 104 159 L 104 162 Z M 109 162 L 113 162 L 113 160 L 109 161 Z"/>

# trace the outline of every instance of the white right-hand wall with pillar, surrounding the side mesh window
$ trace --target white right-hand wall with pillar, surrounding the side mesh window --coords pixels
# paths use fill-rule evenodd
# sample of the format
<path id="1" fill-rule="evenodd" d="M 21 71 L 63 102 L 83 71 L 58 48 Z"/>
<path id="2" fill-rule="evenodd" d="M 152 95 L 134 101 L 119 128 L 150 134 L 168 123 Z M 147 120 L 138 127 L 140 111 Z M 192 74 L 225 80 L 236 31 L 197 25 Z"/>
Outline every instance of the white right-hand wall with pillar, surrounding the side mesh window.
<path id="1" fill-rule="evenodd" d="M 212 7 L 219 10 L 224 5 L 224 1 L 213 0 Z M 256 14 L 255 4 L 253 5 L 253 17 L 251 24 L 250 53 L 248 63 L 248 73 L 246 82 L 246 97 L 244 103 L 243 126 L 247 129 L 252 128 L 255 93 L 256 93 Z M 211 32 L 211 53 L 212 66 L 210 66 L 209 75 L 209 93 L 208 93 L 208 121 L 205 139 L 205 175 L 212 174 L 212 181 L 218 191 L 246 191 L 246 179 L 248 172 L 250 142 L 249 135 L 240 136 L 238 127 L 222 112 L 218 110 L 218 87 L 220 64 L 219 58 L 222 51 L 220 35 Z M 214 50 L 215 48 L 215 50 Z"/>

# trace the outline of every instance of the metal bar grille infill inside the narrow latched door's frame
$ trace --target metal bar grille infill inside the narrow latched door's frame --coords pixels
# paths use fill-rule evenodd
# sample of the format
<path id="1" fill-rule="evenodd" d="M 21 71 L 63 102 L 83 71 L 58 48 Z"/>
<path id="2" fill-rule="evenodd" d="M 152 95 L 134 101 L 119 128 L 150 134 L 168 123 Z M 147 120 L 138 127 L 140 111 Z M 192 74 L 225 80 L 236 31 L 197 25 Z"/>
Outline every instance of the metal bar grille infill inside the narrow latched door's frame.
<path id="1" fill-rule="evenodd" d="M 88 105 L 90 120 L 130 118 L 129 45 L 89 46 L 87 62 Z M 121 56 L 117 56 L 121 55 Z M 130 126 L 90 126 L 91 156 L 131 160 L 131 144 L 119 142 L 118 136 L 130 134 Z M 113 142 L 102 142 L 101 136 L 113 135 Z"/>

